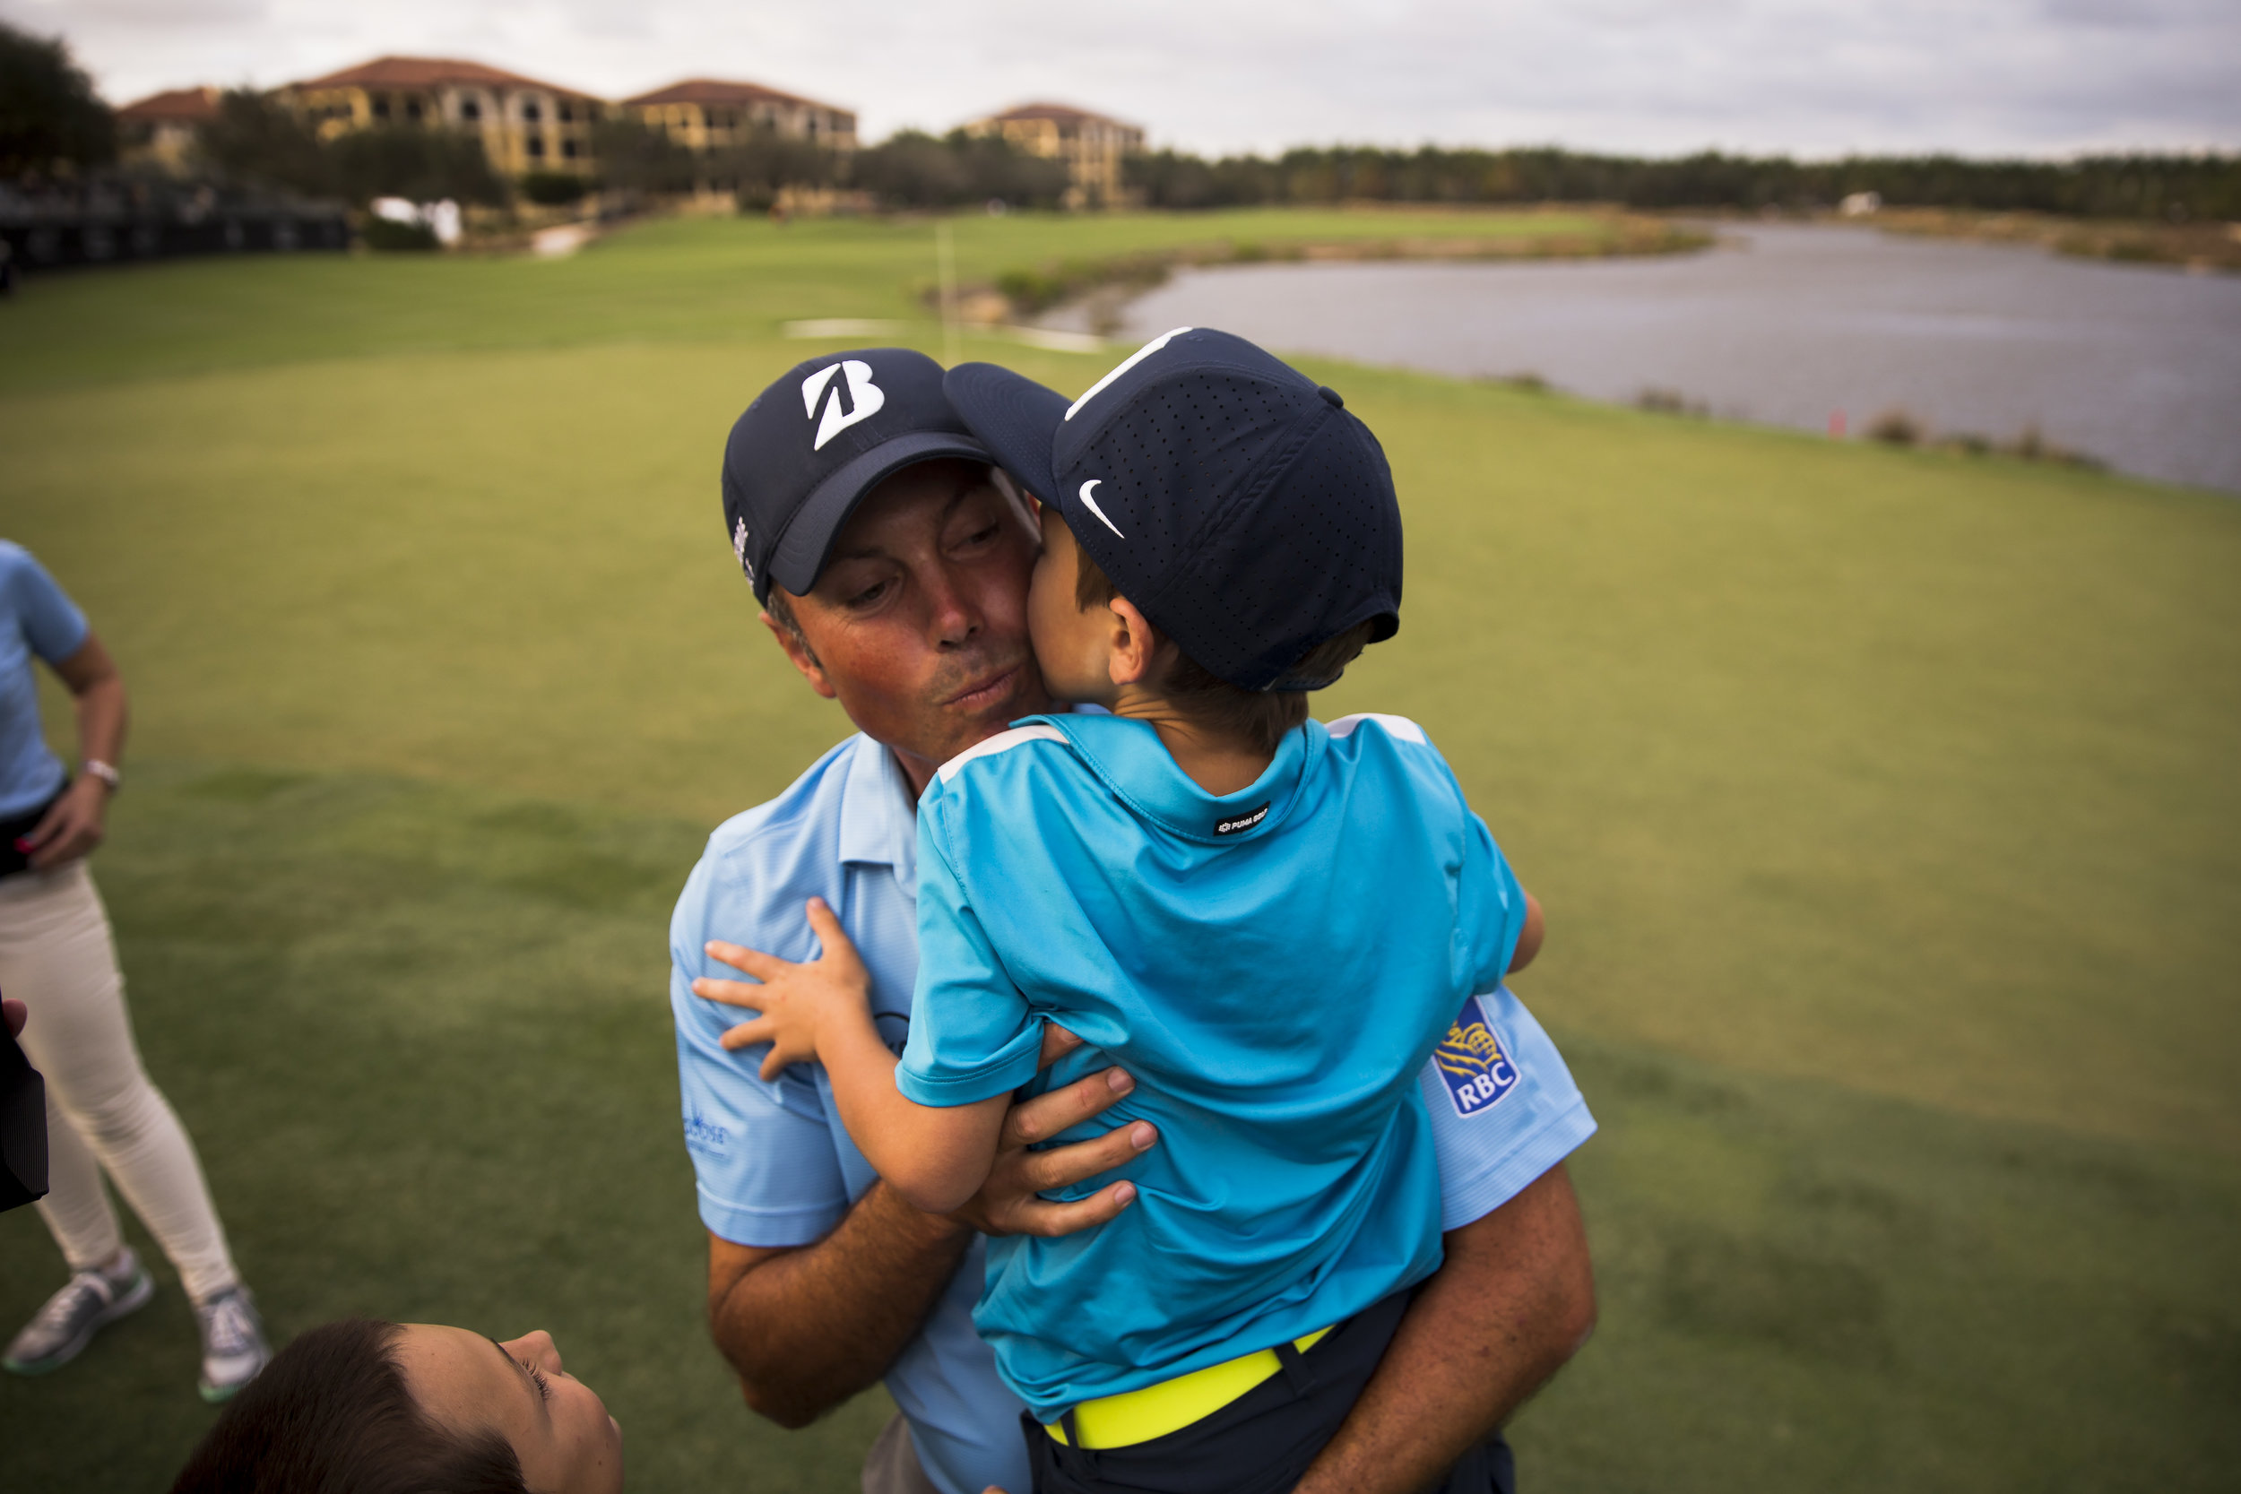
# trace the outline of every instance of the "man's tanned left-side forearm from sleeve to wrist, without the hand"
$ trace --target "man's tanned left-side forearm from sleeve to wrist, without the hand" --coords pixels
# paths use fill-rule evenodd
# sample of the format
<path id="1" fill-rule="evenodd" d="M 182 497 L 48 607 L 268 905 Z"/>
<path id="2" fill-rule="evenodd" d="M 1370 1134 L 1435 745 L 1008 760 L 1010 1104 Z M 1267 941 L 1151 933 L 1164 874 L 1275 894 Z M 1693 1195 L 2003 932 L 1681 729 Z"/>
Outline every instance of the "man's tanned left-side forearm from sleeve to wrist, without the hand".
<path id="1" fill-rule="evenodd" d="M 885 1183 L 816 1245 L 748 1250 L 708 1236 L 708 1328 L 746 1404 L 807 1427 L 887 1373 L 973 1232 L 919 1214 Z"/>

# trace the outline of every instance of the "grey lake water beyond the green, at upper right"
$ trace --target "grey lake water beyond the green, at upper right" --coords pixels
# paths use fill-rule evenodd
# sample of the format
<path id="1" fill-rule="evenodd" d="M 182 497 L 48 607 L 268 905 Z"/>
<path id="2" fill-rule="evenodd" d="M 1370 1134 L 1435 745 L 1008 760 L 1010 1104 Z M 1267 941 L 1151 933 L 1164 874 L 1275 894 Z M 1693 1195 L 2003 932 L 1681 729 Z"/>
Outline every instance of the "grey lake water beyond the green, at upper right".
<path id="1" fill-rule="evenodd" d="M 1275 349 L 1575 394 L 1679 396 L 1851 435 L 2037 428 L 2109 466 L 2241 493 L 2241 276 L 1871 228 L 1719 224 L 1690 255 L 1181 271 L 1123 336 L 1224 327 Z"/>

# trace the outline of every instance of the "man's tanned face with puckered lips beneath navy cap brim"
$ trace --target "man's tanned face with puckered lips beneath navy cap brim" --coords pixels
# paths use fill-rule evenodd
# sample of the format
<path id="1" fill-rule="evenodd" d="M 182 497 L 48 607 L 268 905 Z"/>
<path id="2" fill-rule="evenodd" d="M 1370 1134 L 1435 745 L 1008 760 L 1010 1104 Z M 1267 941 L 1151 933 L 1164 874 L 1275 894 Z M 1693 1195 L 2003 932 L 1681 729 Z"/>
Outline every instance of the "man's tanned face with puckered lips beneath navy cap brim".
<path id="1" fill-rule="evenodd" d="M 764 623 L 923 788 L 957 753 L 1049 708 L 1026 638 L 1035 547 L 988 468 L 921 461 L 863 499 L 818 585 L 789 598 L 802 638 Z"/>

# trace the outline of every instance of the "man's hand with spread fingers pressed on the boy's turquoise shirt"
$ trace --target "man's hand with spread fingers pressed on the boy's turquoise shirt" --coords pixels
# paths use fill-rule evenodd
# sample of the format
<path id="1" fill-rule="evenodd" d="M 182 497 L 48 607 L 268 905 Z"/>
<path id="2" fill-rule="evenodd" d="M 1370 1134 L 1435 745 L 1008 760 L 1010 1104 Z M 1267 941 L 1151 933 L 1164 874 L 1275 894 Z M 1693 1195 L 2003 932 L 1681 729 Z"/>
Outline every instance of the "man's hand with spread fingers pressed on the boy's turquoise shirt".
<path id="1" fill-rule="evenodd" d="M 1042 1028 L 1042 1062 L 1038 1068 L 1049 1068 L 1080 1046 L 1080 1037 L 1062 1026 L 1047 1024 Z M 1114 1127 L 1096 1140 L 1051 1151 L 1029 1151 L 1029 1147 L 1103 1113 L 1134 1089 L 1136 1080 L 1125 1068 L 1105 1068 L 1087 1080 L 1076 1080 L 1064 1089 L 1053 1089 L 1047 1095 L 1035 1095 L 1011 1107 L 1004 1115 L 1004 1131 L 995 1142 L 995 1167 L 988 1169 L 988 1180 L 950 1218 L 973 1225 L 982 1234 L 1053 1236 L 1100 1225 L 1132 1205 L 1136 1201 L 1134 1183 L 1114 1183 L 1073 1203 L 1051 1203 L 1038 1198 L 1038 1194 L 1069 1187 L 1136 1160 L 1159 1140 L 1159 1127 L 1150 1120 Z"/>

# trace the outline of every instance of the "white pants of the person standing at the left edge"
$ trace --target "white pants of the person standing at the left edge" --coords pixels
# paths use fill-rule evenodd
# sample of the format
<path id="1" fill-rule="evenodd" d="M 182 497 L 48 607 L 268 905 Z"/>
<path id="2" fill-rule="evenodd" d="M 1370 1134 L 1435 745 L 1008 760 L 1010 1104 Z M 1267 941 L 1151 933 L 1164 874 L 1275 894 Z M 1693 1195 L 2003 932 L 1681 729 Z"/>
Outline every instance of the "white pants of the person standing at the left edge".
<path id="1" fill-rule="evenodd" d="M 125 1243 L 101 1189 L 108 1169 L 188 1297 L 204 1301 L 233 1286 L 195 1142 L 141 1068 L 110 916 L 83 860 L 0 878 L 0 992 L 31 1010 L 20 1042 L 47 1080 L 47 1196 L 38 1212 L 69 1268 L 92 1270 Z"/>

